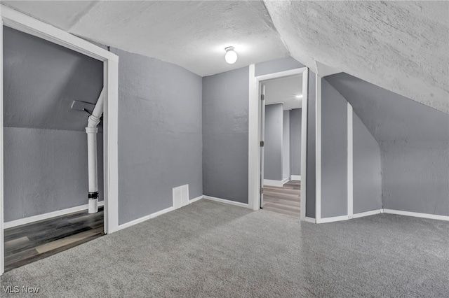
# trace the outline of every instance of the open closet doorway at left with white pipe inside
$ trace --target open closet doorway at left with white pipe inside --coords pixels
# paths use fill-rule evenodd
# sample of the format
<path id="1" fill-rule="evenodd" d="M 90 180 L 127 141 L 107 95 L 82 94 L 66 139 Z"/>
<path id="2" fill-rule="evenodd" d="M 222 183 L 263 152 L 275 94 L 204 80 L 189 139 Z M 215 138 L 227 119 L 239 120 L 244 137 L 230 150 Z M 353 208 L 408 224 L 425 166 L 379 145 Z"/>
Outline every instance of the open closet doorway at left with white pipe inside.
<path id="1" fill-rule="evenodd" d="M 103 89 L 104 62 L 10 27 L 3 38 L 8 271 L 104 234 L 103 126 L 92 145 L 100 209 L 90 212 L 85 130 Z M 85 108 L 74 109 L 74 101 Z"/>

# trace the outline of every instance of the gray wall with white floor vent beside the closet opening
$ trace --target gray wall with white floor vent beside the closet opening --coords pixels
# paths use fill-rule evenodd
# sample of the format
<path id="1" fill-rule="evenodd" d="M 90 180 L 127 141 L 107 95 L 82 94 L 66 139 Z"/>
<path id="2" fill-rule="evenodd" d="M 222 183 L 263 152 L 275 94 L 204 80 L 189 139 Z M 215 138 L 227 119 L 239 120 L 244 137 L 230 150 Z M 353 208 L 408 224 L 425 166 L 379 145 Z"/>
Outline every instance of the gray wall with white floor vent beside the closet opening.
<path id="1" fill-rule="evenodd" d="M 172 189 L 203 194 L 201 77 L 174 64 L 119 55 L 119 224 L 172 206 Z"/>

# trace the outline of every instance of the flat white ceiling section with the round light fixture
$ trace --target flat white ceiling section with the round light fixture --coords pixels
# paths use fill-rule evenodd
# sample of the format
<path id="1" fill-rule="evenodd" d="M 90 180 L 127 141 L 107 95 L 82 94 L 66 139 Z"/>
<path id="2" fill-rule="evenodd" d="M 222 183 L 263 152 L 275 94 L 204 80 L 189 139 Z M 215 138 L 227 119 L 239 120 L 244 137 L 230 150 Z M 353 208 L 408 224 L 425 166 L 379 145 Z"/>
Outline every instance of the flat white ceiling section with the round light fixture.
<path id="1" fill-rule="evenodd" d="M 199 76 L 288 57 L 262 1 L 4 1 L 72 34 Z M 225 48 L 239 58 L 225 62 Z"/>

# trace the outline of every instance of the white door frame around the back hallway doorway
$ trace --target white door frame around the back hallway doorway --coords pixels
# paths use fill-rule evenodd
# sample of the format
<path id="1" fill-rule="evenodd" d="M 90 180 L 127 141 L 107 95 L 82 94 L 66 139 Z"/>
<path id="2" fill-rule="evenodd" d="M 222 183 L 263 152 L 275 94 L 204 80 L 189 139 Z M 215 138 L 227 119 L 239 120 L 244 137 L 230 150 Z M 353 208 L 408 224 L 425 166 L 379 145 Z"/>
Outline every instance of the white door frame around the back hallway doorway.
<path id="1" fill-rule="evenodd" d="M 309 69 L 302 67 L 289 71 L 255 76 L 255 66 L 250 65 L 248 105 L 248 206 L 260 209 L 260 82 L 273 78 L 302 75 L 302 128 L 301 128 L 301 220 L 306 219 L 307 179 L 307 82 Z"/>

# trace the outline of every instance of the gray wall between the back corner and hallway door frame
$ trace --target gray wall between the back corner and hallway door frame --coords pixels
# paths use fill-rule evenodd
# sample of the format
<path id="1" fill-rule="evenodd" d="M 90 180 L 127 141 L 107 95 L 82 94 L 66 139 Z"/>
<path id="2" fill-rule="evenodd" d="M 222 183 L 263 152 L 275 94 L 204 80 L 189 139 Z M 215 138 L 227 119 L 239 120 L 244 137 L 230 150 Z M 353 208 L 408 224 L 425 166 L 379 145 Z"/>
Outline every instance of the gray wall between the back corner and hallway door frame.
<path id="1" fill-rule="evenodd" d="M 249 67 L 203 78 L 203 194 L 248 203 Z"/>

